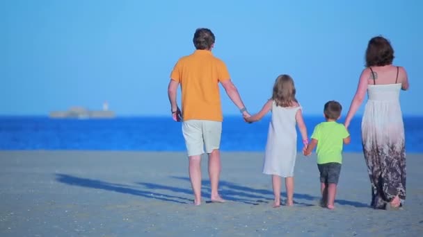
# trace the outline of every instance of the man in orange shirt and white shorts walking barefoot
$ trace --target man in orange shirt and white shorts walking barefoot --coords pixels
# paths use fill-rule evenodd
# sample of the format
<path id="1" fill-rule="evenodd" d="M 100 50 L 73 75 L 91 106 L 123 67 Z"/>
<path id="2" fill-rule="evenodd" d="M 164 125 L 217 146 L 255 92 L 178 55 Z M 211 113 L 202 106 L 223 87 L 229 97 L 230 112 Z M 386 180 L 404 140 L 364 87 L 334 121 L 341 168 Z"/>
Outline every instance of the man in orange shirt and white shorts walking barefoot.
<path id="1" fill-rule="evenodd" d="M 219 82 L 241 114 L 250 116 L 237 87 L 230 80 L 225 63 L 212 54 L 214 41 L 212 30 L 207 28 L 195 30 L 193 43 L 196 50 L 177 61 L 170 73 L 168 86 L 173 120 L 183 121 L 182 133 L 189 157 L 189 177 L 195 205 L 201 204 L 200 161 L 201 155 L 205 152 L 209 156 L 209 177 L 212 187 L 210 199 L 212 202 L 225 202 L 218 193 L 221 173 L 219 147 L 223 121 Z M 182 114 L 176 102 L 179 84 L 182 91 Z"/>

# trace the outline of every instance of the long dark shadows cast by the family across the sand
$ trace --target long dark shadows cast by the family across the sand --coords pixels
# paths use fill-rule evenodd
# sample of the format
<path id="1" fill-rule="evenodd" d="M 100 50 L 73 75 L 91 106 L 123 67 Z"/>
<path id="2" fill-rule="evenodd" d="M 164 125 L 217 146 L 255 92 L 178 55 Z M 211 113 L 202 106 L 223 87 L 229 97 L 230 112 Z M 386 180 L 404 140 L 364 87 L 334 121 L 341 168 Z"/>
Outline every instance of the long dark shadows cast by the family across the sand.
<path id="1" fill-rule="evenodd" d="M 189 182 L 188 177 L 171 176 L 170 178 Z M 143 198 L 152 198 L 166 202 L 175 202 L 180 204 L 191 204 L 193 202 L 192 198 L 186 198 L 192 196 L 191 188 L 180 188 L 177 186 L 167 186 L 164 184 L 153 184 L 148 182 L 137 182 L 136 184 L 138 186 L 128 186 L 122 184 L 114 184 L 111 182 L 104 182 L 97 179 L 87 179 L 83 177 L 75 177 L 72 175 L 65 174 L 56 174 L 56 181 L 72 186 L 81 186 L 86 188 L 114 191 L 118 193 L 137 195 Z M 245 204 L 258 205 L 260 203 L 268 203 L 269 200 L 273 200 L 273 191 L 271 191 L 270 189 L 267 190 L 250 188 L 224 180 L 221 180 L 221 182 L 219 182 L 219 189 L 223 198 L 232 202 L 243 202 Z M 282 193 L 282 197 L 285 196 L 286 193 Z M 205 200 L 210 198 L 209 180 L 202 181 L 202 198 L 205 198 Z M 299 206 L 309 207 L 317 204 L 319 197 L 303 193 L 295 193 L 294 200 L 295 203 Z M 298 202 L 298 200 L 305 200 L 305 202 Z M 310 203 L 310 201 L 312 202 Z M 350 205 L 353 207 L 369 207 L 369 205 L 367 204 L 348 200 L 336 200 L 335 202 L 337 204 Z"/>

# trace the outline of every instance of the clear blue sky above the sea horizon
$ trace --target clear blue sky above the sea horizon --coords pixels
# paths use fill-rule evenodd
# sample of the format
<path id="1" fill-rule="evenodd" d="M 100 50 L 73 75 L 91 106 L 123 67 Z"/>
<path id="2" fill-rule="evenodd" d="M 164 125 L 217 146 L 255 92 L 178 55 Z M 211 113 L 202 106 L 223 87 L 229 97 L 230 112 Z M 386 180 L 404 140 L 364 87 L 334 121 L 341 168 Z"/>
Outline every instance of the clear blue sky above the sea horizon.
<path id="1" fill-rule="evenodd" d="M 166 115 L 170 71 L 193 52 L 199 27 L 214 31 L 213 53 L 250 112 L 288 73 L 305 114 L 333 99 L 346 113 L 367 42 L 383 35 L 408 71 L 402 110 L 423 115 L 422 10 L 417 0 L 0 1 L 0 115 L 101 109 L 104 100 L 120 116 Z M 224 114 L 239 114 L 221 94 Z"/>

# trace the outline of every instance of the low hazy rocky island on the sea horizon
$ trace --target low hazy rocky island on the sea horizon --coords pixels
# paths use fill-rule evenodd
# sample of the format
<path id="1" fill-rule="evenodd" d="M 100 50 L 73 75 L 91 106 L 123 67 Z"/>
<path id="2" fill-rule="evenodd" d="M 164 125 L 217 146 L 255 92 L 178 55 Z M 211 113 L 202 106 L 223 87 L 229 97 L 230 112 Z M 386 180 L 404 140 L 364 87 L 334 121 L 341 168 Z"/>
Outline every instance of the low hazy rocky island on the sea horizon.
<path id="1" fill-rule="evenodd" d="M 71 107 L 67 111 L 53 111 L 49 114 L 53 119 L 113 119 L 115 112 L 111 110 L 88 110 L 84 107 Z"/>

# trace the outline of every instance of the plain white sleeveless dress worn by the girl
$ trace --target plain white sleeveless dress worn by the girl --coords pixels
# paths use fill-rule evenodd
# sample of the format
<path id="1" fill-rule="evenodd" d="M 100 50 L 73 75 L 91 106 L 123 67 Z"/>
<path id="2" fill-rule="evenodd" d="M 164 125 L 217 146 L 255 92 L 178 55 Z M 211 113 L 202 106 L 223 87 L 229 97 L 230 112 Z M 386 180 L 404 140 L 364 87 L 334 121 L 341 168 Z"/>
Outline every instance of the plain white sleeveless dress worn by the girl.
<path id="1" fill-rule="evenodd" d="M 272 103 L 263 173 L 293 177 L 296 160 L 296 119 L 298 107 L 280 107 Z"/>

